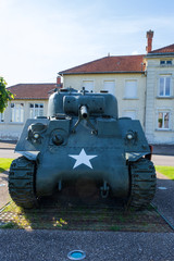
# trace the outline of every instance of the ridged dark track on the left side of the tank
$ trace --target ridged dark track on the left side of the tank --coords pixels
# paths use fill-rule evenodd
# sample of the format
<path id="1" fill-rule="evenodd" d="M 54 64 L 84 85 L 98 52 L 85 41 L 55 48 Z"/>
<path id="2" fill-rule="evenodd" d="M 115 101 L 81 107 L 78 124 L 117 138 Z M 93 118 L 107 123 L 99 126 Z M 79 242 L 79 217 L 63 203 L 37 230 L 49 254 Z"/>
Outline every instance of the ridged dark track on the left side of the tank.
<path id="1" fill-rule="evenodd" d="M 9 173 L 9 192 L 14 202 L 23 208 L 37 204 L 35 194 L 35 162 L 20 157 L 14 160 Z"/>

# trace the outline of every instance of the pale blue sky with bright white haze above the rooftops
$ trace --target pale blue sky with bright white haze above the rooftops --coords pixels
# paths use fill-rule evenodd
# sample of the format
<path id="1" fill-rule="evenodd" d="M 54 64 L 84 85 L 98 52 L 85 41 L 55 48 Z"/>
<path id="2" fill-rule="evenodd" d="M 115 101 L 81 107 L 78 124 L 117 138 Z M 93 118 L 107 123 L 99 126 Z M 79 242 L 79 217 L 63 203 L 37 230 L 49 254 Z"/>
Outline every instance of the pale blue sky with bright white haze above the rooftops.
<path id="1" fill-rule="evenodd" d="M 0 0 L 0 76 L 8 86 L 110 55 L 174 44 L 173 0 Z"/>

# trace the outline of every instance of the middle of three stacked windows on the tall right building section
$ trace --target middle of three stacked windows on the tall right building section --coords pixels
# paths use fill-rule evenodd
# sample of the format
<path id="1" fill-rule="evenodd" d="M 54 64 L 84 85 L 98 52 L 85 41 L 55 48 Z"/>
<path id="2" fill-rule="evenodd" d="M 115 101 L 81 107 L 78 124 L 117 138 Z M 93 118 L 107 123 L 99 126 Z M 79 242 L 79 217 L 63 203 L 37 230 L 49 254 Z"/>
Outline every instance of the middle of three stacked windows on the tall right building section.
<path id="1" fill-rule="evenodd" d="M 171 77 L 170 76 L 160 77 L 159 96 L 160 97 L 171 96 Z"/>

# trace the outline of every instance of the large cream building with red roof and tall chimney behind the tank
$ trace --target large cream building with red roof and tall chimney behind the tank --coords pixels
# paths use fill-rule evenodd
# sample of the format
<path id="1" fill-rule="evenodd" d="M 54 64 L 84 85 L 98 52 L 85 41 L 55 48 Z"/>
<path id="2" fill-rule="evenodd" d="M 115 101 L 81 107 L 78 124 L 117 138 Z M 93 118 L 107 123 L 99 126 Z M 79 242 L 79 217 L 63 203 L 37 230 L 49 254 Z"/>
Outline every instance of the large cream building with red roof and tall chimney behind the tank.
<path id="1" fill-rule="evenodd" d="M 139 120 L 150 144 L 174 144 L 174 45 L 147 53 L 105 57 L 60 72 L 64 87 L 108 90 L 116 96 L 119 116 Z"/>

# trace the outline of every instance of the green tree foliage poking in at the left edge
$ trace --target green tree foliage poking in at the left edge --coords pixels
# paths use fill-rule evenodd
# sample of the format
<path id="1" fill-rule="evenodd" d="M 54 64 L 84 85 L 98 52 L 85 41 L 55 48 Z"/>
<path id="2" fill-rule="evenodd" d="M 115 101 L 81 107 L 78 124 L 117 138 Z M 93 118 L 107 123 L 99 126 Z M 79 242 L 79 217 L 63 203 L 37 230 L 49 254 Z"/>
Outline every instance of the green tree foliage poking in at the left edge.
<path id="1" fill-rule="evenodd" d="M 5 88 L 7 83 L 3 77 L 0 77 L 0 113 L 4 111 L 8 105 L 8 101 L 14 99 L 13 94 Z"/>

